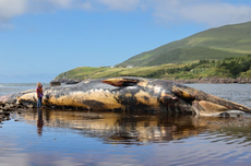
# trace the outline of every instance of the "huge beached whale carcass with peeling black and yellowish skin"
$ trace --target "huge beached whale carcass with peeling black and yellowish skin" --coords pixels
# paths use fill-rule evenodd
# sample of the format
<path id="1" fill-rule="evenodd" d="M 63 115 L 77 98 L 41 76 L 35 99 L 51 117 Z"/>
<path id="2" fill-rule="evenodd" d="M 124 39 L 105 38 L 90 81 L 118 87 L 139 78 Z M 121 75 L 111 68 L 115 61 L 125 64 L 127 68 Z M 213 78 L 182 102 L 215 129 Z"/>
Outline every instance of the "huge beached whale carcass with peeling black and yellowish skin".
<path id="1" fill-rule="evenodd" d="M 2 96 L 0 100 L 14 103 L 16 98 L 23 104 L 37 103 L 35 90 Z M 43 103 L 46 106 L 85 109 L 157 110 L 196 115 L 231 109 L 247 112 L 251 110 L 246 106 L 167 80 L 129 76 L 45 87 Z"/>

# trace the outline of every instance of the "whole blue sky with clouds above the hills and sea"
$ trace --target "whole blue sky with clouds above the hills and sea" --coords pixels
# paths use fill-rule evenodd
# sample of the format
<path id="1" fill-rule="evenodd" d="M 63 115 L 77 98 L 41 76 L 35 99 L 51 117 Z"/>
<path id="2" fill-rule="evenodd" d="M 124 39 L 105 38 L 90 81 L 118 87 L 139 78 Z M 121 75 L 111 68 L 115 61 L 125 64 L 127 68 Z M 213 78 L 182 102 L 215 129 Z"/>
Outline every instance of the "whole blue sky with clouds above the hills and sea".
<path id="1" fill-rule="evenodd" d="M 50 82 L 249 21 L 250 0 L 0 0 L 0 83 Z"/>

